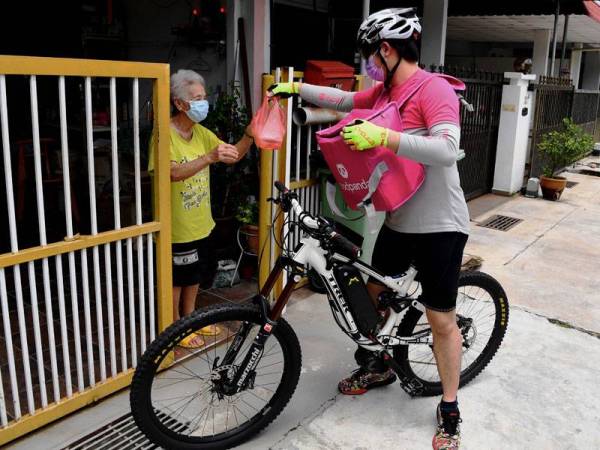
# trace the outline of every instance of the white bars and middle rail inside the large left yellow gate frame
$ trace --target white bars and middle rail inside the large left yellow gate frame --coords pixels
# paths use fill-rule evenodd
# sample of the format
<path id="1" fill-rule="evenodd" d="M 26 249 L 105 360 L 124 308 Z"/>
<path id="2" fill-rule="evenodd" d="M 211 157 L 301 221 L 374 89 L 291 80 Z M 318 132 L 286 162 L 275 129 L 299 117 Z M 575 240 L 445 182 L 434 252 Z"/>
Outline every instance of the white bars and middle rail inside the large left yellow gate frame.
<path id="1" fill-rule="evenodd" d="M 82 61 L 81 64 L 85 63 Z M 158 65 L 147 69 L 168 74 Z M 57 71 L 60 72 L 60 69 Z M 31 74 L 25 76 L 29 78 L 35 204 L 26 203 L 25 209 L 29 213 L 25 221 L 35 220 L 37 215 L 39 246 L 19 248 L 19 233 L 25 225 L 17 224 L 15 214 L 13 160 L 16 148 L 10 136 L 10 125 L 14 121 L 12 105 L 7 99 L 9 76 L 2 73 L 6 72 L 0 71 L 0 125 L 10 253 L 0 254 L 0 426 L 11 429 L 49 407 L 52 411 L 46 421 L 64 415 L 69 412 L 63 408 L 64 401 L 84 392 L 91 393 L 89 398 L 93 399 L 126 385 L 128 381 L 121 380 L 118 386 L 113 385 L 114 388 L 104 386 L 101 393 L 94 395 L 93 392 L 96 387 L 106 385 L 107 381 L 124 375 L 130 377 L 138 355 L 156 335 L 154 239 L 160 234 L 157 232 L 161 227 L 158 222 L 144 223 L 142 218 L 139 79 L 119 74 L 119 82 L 129 84 L 129 94 L 126 98 L 118 98 L 117 78 L 108 78 L 112 169 L 110 211 L 105 208 L 99 210 L 97 206 L 95 142 L 98 127 L 93 123 L 92 76 L 84 76 L 80 80 L 84 99 L 81 105 L 84 119 L 81 148 L 69 142 L 71 123 L 67 120 L 65 76 L 53 77 L 58 97 L 60 150 L 57 151 L 60 151 L 63 191 L 63 204 L 57 205 L 44 199 L 39 80 Z M 131 128 L 120 128 L 118 102 L 131 105 Z M 168 115 L 163 117 L 168 119 Z M 118 139 L 119 134 L 124 133 L 132 134 L 135 204 L 135 225 L 126 227 L 122 227 L 121 221 L 121 185 L 125 175 L 119 168 L 123 149 L 119 148 Z M 145 148 L 146 143 L 142 146 Z M 75 165 L 72 156 L 78 151 L 81 152 L 78 158 L 81 162 Z M 18 157 L 22 159 L 22 155 Z M 44 157 L 47 158 L 47 155 Z M 81 181 L 79 185 L 74 184 L 73 173 L 77 180 L 84 180 L 85 176 L 81 174 L 85 171 L 87 186 Z M 131 180 L 125 181 L 131 183 Z M 81 199 L 86 192 L 89 192 L 90 226 L 89 234 L 81 235 L 74 229 L 72 199 Z M 47 212 L 56 209 L 64 210 L 66 235 L 63 241 L 48 242 L 48 227 L 57 225 L 48 222 Z M 112 230 L 99 232 L 98 218 L 106 220 L 106 216 L 110 215 L 114 224 Z M 10 433 L 2 432 L 0 428 L 0 433 L 5 434 L 0 437 L 0 444 L 33 427 L 28 425 Z"/>

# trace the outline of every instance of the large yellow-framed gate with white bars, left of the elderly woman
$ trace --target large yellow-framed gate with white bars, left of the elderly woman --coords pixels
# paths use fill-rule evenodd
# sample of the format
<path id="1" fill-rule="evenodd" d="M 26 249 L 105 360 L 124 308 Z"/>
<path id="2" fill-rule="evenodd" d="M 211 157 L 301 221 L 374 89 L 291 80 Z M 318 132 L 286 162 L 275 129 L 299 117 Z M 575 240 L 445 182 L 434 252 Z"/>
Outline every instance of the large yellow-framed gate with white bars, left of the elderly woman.
<path id="1" fill-rule="evenodd" d="M 106 82 L 107 127 L 94 123 L 99 93 L 93 84 L 98 77 Z M 168 77 L 166 64 L 0 56 L 3 187 L 10 241 L 9 251 L 0 253 L 0 445 L 127 386 L 138 355 L 171 322 Z M 17 89 L 23 79 L 28 81 L 25 92 Z M 157 133 L 154 220 L 146 222 L 140 157 L 146 143 L 140 143 L 139 128 L 142 80 L 152 84 Z M 124 98 L 117 83 L 125 83 Z M 81 103 L 69 101 L 70 89 L 77 91 Z M 15 95 L 19 101 L 29 97 L 28 146 L 11 136 L 11 127 L 27 128 L 18 114 L 19 104 L 10 103 Z M 49 99 L 56 99 L 52 107 Z M 127 131 L 120 128 L 117 115 L 123 103 L 132 112 Z M 73 114 L 74 109 L 79 114 Z M 49 178 L 48 140 L 42 131 L 52 127 L 59 136 L 60 170 Z M 72 138 L 77 129 L 81 140 Z M 105 184 L 96 173 L 101 132 L 110 133 L 103 139 L 111 166 L 110 206 L 97 202 L 98 185 Z M 131 133 L 132 148 L 120 146 L 119 137 L 125 133 Z M 15 193 L 23 185 L 15 189 L 13 166 L 17 161 L 22 169 L 29 155 L 34 170 L 27 181 L 35 195 L 31 201 L 23 197 L 27 214 L 17 223 Z M 126 158 L 132 159 L 131 174 L 121 170 Z M 135 205 L 128 226 L 122 220 L 125 184 L 133 186 Z M 58 196 L 62 204 L 45 198 L 50 187 L 62 190 Z M 89 210 L 87 229 L 74 226 L 77 201 L 78 211 Z M 64 238 L 50 238 L 62 234 L 62 226 L 48 218 L 63 212 Z M 113 225 L 101 230 L 98 221 L 107 216 L 112 216 Z M 22 248 L 19 235 L 30 226 L 37 229 L 38 245 Z"/>

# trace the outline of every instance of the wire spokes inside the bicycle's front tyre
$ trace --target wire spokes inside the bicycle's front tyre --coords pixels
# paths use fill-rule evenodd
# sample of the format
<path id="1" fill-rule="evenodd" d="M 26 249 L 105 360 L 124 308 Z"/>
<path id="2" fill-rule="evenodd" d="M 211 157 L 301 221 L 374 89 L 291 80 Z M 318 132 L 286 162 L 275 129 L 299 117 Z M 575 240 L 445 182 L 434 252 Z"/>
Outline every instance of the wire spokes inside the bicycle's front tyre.
<path id="1" fill-rule="evenodd" d="M 152 408 L 165 411 L 159 420 L 171 433 L 193 437 L 199 442 L 213 439 L 213 436 L 218 438 L 255 420 L 275 395 L 285 368 L 283 350 L 276 335 L 265 345 L 253 371 L 252 387 L 246 386 L 234 395 L 223 391 L 222 383 L 230 382 L 240 370 L 260 330 L 254 322 L 242 328 L 244 323 L 203 323 L 202 327 L 217 326 L 219 334 L 203 336 L 203 348 L 177 350 L 177 361 L 164 372 L 155 374 L 150 388 Z M 247 335 L 242 334 L 243 329 Z M 232 345 L 242 336 L 245 338 L 238 343 L 239 350 L 234 353 Z"/>

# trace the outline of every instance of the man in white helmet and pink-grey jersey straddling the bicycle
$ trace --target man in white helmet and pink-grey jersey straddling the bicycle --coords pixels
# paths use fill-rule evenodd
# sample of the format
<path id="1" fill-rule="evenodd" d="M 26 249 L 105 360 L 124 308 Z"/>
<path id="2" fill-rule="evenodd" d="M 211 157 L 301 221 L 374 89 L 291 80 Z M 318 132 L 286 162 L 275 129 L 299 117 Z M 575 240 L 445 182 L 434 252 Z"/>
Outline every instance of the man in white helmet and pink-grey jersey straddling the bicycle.
<path id="1" fill-rule="evenodd" d="M 321 107 L 350 111 L 373 108 L 381 98 L 395 101 L 429 76 L 417 65 L 421 25 L 414 8 L 391 8 L 371 14 L 358 31 L 358 47 L 367 71 L 382 83 L 362 92 L 345 92 L 306 83 L 278 83 L 273 95 L 300 95 Z M 425 182 L 403 206 L 387 213 L 373 252 L 373 267 L 385 274 L 404 272 L 412 263 L 419 273 L 422 295 L 433 334 L 433 353 L 442 381 L 437 407 L 435 450 L 457 449 L 461 422 L 457 392 L 462 336 L 456 324 L 457 284 L 469 233 L 469 213 L 460 187 L 458 98 L 450 84 L 430 77 L 400 110 L 402 132 L 363 121 L 346 126 L 342 136 L 353 150 L 385 146 L 425 166 Z M 374 301 L 385 289 L 370 280 Z M 377 355 L 359 348 L 359 368 L 340 381 L 340 392 L 360 395 L 393 383 L 396 376 Z"/>

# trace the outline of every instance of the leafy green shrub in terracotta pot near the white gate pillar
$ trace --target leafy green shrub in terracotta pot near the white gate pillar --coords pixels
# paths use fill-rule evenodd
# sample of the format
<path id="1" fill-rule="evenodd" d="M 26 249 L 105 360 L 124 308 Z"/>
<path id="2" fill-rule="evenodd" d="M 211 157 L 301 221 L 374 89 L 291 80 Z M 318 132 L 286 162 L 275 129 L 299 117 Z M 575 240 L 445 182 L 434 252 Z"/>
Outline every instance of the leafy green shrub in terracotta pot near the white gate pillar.
<path id="1" fill-rule="evenodd" d="M 563 119 L 563 129 L 542 136 L 538 149 L 545 166 L 540 177 L 542 194 L 546 200 L 558 200 L 567 185 L 565 177 L 557 176 L 562 169 L 590 152 L 594 140 L 570 118 Z"/>

